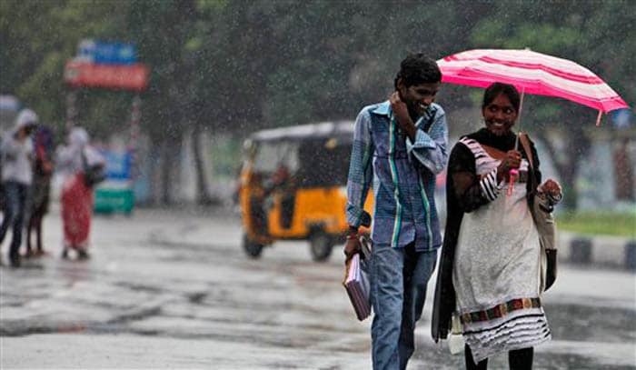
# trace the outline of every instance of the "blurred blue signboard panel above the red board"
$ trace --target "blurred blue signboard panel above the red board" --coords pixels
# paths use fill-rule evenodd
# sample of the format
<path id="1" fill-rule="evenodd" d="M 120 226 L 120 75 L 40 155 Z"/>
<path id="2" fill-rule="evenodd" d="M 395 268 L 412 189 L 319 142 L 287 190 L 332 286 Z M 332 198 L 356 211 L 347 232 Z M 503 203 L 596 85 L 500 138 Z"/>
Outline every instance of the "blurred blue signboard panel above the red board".
<path id="1" fill-rule="evenodd" d="M 83 40 L 77 47 L 77 56 L 95 64 L 134 65 L 137 63 L 137 48 L 128 43 Z"/>

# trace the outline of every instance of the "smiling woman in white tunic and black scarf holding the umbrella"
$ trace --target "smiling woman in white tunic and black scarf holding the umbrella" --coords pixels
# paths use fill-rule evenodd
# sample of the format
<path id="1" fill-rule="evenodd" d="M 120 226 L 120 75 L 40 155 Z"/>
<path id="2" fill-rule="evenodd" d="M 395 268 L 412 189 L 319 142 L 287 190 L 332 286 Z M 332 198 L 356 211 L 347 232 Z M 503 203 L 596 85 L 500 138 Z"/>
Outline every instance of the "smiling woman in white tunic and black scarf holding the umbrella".
<path id="1" fill-rule="evenodd" d="M 511 369 L 531 369 L 533 346 L 551 338 L 540 297 L 542 249 L 527 196 L 534 191 L 528 155 L 536 184 L 541 173 L 532 143 L 532 154 L 516 149 L 512 125 L 519 109 L 514 86 L 490 85 L 482 103 L 485 127 L 463 136 L 449 160 L 432 334 L 445 338 L 454 312 L 462 323 L 467 369 L 485 369 L 488 357 L 503 351 Z M 511 179 L 512 173 L 518 175 Z M 551 205 L 561 199 L 561 186 L 552 179 L 539 191 Z"/>

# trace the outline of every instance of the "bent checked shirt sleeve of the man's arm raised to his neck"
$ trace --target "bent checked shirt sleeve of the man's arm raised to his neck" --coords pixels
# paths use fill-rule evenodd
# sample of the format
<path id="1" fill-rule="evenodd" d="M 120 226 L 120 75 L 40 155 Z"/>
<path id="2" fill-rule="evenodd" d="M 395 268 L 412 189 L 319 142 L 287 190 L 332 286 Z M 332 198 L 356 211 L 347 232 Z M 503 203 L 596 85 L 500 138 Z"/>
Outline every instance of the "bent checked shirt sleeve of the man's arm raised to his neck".
<path id="1" fill-rule="evenodd" d="M 422 125 L 415 133 L 415 142 L 406 138 L 406 150 L 434 175 L 442 172 L 448 160 L 448 126 L 442 109 L 435 111 L 434 121 L 426 133 Z"/>

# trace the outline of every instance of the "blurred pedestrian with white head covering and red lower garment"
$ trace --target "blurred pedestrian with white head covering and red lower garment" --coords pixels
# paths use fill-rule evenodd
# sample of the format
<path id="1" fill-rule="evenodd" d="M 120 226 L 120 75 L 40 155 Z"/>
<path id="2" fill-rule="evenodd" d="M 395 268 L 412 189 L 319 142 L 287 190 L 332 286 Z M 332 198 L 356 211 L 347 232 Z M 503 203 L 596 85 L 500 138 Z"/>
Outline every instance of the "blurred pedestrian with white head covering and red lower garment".
<path id="1" fill-rule="evenodd" d="M 78 259 L 88 259 L 94 202 L 94 184 L 90 177 L 92 168 L 104 167 L 104 157 L 89 145 L 86 130 L 74 127 L 68 135 L 68 145 L 58 148 L 55 162 L 65 176 L 61 196 L 64 227 L 62 258 L 68 258 L 69 251 L 75 250 Z"/>

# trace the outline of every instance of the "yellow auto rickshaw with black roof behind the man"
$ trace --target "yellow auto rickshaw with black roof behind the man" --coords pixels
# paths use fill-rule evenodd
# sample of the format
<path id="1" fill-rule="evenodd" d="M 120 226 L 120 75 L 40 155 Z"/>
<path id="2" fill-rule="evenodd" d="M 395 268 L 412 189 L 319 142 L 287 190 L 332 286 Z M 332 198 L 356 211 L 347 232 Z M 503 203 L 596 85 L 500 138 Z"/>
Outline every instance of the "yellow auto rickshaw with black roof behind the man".
<path id="1" fill-rule="evenodd" d="M 258 258 L 278 240 L 308 240 L 314 261 L 344 242 L 353 121 L 262 130 L 245 140 L 239 204 L 243 249 Z M 369 192 L 364 208 L 373 207 Z M 366 227 L 361 232 L 368 233 Z"/>

